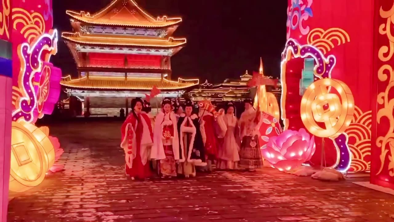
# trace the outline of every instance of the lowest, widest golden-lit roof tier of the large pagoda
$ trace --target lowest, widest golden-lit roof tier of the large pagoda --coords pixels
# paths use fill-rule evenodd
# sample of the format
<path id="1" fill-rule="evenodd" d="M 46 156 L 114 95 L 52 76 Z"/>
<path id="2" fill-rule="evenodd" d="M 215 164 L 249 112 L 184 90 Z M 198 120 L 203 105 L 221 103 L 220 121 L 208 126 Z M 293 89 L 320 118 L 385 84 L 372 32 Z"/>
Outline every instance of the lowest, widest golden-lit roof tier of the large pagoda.
<path id="1" fill-rule="evenodd" d="M 194 85 L 198 85 L 198 79 L 182 79 L 172 81 L 161 78 L 130 78 L 124 77 L 83 77 L 71 79 L 64 77 L 60 85 L 67 88 L 76 89 L 111 89 L 111 90 L 151 90 L 156 86 L 160 90 L 180 90 Z"/>

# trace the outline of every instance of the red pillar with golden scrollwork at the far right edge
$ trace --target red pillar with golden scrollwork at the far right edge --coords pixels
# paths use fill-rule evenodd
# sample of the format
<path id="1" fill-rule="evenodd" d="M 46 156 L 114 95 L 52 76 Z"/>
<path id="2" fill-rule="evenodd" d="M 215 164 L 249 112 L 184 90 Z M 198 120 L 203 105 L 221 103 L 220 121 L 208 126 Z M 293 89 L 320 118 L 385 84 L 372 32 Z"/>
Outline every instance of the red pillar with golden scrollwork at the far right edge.
<path id="1" fill-rule="evenodd" d="M 371 183 L 394 189 L 394 0 L 375 0 Z"/>

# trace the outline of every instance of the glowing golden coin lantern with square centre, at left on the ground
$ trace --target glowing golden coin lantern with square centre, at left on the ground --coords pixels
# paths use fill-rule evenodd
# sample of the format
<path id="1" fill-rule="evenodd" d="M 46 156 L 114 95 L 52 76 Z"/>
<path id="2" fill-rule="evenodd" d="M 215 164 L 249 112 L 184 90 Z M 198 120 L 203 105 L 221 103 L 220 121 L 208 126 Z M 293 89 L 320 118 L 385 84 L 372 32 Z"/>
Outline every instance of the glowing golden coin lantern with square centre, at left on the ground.
<path id="1" fill-rule="evenodd" d="M 9 190 L 24 192 L 39 185 L 55 162 L 47 128 L 12 122 Z"/>

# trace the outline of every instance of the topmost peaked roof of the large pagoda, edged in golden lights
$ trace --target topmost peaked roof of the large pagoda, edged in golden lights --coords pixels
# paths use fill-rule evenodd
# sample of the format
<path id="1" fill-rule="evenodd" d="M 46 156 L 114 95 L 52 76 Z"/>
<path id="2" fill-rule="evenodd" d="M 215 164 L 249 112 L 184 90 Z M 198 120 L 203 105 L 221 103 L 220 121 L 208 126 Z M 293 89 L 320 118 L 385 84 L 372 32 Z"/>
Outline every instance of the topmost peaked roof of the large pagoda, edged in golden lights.
<path id="1" fill-rule="evenodd" d="M 135 0 L 113 0 L 108 6 L 91 15 L 85 11 L 67 10 L 67 15 L 87 24 L 134 27 L 166 27 L 182 22 L 180 17 L 157 17 L 156 19 L 138 6 Z"/>

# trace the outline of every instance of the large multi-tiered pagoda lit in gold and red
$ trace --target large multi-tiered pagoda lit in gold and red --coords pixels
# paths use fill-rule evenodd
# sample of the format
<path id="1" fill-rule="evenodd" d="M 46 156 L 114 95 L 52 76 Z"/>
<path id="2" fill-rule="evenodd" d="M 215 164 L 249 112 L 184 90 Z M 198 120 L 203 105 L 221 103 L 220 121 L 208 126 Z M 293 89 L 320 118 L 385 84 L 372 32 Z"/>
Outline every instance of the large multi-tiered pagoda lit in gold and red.
<path id="1" fill-rule="evenodd" d="M 154 18 L 134 0 L 113 0 L 95 14 L 66 13 L 73 32 L 63 32 L 62 37 L 76 62 L 78 78 L 65 77 L 61 85 L 69 96 L 84 102 L 87 111 L 95 103 L 126 104 L 127 114 L 127 98 L 145 97 L 153 86 L 162 91 L 160 99 L 177 97 L 198 85 L 198 79 L 171 80 L 171 56 L 186 44 L 185 38 L 172 37 L 180 17 Z"/>

